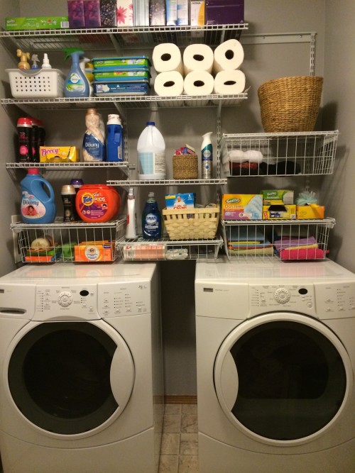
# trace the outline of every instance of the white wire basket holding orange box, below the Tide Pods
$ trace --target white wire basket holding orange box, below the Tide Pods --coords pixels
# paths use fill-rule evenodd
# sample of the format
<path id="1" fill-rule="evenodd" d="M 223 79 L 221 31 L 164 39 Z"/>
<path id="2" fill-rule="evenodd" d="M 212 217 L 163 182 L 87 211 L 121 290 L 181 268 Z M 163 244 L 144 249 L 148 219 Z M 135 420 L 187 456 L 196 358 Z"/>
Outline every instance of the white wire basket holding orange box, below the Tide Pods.
<path id="1" fill-rule="evenodd" d="M 126 218 L 107 223 L 11 223 L 16 233 L 18 253 L 22 262 L 109 262 L 119 257 L 116 242 L 124 238 Z M 50 247 L 33 248 L 32 243 L 45 238 Z"/>

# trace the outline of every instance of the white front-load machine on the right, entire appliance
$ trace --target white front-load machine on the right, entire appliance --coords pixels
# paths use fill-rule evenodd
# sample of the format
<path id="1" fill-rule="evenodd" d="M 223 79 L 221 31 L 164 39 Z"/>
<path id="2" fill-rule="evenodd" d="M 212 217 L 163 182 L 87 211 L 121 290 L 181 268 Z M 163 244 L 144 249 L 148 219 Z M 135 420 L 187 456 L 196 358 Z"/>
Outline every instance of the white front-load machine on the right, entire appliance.
<path id="1" fill-rule="evenodd" d="M 355 274 L 197 263 L 200 473 L 355 472 Z"/>

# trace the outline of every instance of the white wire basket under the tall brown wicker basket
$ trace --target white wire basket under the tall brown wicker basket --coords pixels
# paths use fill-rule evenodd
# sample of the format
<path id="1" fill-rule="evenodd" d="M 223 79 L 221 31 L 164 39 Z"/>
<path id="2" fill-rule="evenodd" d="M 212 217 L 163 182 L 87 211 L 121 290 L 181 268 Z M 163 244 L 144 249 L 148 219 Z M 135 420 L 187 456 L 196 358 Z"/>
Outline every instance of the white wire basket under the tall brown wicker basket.
<path id="1" fill-rule="evenodd" d="M 224 134 L 220 141 L 223 175 L 255 177 L 332 174 L 338 135 L 338 130 Z"/>

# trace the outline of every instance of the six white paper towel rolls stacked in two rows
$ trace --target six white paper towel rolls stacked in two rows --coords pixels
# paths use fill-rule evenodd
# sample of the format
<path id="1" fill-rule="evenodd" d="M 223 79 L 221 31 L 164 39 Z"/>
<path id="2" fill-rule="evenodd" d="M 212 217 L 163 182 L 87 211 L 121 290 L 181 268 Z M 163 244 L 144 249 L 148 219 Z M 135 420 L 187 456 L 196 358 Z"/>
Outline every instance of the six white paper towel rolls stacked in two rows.
<path id="1" fill-rule="evenodd" d="M 155 46 L 152 60 L 157 72 L 154 89 L 160 96 L 236 95 L 245 89 L 245 75 L 239 70 L 244 50 L 238 40 L 227 40 L 214 51 L 192 44 L 183 54 L 177 45 L 162 43 Z"/>

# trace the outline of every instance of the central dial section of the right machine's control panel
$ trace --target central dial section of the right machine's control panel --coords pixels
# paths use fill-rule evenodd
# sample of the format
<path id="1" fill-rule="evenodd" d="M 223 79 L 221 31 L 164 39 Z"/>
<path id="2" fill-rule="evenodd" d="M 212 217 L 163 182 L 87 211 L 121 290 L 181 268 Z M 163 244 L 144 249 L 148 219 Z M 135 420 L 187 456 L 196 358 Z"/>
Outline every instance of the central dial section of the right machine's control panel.
<path id="1" fill-rule="evenodd" d="M 250 316 L 269 311 L 292 311 L 315 316 L 315 289 L 312 284 L 249 286 Z"/>

